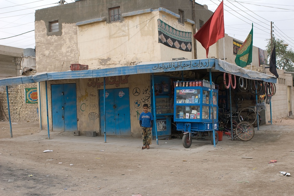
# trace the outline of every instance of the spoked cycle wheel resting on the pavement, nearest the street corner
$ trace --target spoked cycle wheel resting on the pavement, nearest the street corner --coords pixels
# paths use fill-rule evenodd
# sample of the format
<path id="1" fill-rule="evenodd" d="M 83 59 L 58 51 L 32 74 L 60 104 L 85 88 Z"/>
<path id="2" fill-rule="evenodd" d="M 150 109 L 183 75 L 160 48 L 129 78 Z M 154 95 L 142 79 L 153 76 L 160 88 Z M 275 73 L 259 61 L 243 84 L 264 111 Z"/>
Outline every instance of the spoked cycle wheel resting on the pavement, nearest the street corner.
<path id="1" fill-rule="evenodd" d="M 243 141 L 248 141 L 254 136 L 254 128 L 249 122 L 239 122 L 235 128 L 236 136 Z"/>

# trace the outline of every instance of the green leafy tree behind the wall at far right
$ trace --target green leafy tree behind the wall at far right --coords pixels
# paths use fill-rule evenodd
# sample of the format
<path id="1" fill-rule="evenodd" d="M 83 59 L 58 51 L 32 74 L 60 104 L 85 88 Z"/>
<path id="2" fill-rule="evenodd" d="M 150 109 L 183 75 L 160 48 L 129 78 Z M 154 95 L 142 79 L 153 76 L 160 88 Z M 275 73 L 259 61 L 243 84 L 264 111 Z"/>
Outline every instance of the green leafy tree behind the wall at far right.
<path id="1" fill-rule="evenodd" d="M 271 55 L 271 42 L 270 39 L 267 39 L 268 44 L 266 45 L 266 51 L 268 52 L 268 62 L 270 62 Z M 275 38 L 273 36 L 273 43 L 276 45 L 276 65 L 278 69 L 284 69 L 285 71 L 294 72 L 294 52 L 291 48 L 282 45 L 283 40 Z M 273 44 L 274 46 L 274 44 Z M 293 86 L 294 86 L 294 74 L 293 77 Z"/>

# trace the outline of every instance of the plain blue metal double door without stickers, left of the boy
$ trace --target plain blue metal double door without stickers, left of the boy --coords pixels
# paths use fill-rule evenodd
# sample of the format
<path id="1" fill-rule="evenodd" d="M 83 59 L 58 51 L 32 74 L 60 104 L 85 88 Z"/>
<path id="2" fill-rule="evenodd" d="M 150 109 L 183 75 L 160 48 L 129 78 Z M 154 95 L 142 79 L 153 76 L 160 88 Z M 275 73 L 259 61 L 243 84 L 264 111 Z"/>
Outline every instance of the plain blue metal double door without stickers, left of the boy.
<path id="1" fill-rule="evenodd" d="M 52 84 L 51 100 L 53 131 L 76 131 L 76 84 Z"/>

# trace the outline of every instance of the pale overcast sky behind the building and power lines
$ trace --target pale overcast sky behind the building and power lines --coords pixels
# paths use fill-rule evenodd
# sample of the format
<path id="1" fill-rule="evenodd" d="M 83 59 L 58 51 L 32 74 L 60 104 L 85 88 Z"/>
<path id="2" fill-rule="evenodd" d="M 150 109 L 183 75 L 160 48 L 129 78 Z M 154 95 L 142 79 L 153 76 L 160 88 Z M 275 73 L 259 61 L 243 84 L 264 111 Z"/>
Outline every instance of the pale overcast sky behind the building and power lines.
<path id="1" fill-rule="evenodd" d="M 211 11 L 215 11 L 221 2 L 195 1 L 206 4 Z M 58 0 L 1 0 L 0 45 L 34 48 L 35 10 L 59 5 L 57 3 Z M 266 39 L 270 39 L 270 22 L 273 21 L 275 37 L 284 40 L 289 44 L 288 47 L 294 49 L 293 0 L 224 0 L 224 20 L 225 33 L 241 41 L 246 39 L 253 23 L 253 45 L 261 49 L 265 49 Z"/>

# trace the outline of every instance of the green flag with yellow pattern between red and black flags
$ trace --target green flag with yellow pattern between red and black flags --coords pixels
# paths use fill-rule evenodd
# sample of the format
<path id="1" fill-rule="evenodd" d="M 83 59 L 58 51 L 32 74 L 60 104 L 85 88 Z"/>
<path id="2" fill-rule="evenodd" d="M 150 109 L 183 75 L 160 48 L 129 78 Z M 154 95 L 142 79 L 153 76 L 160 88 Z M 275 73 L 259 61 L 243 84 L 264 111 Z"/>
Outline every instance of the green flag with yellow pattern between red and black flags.
<path id="1" fill-rule="evenodd" d="M 252 29 L 247 36 L 246 40 L 239 48 L 238 53 L 235 58 L 236 65 L 240 67 L 246 67 L 252 62 L 252 48 L 253 48 L 253 23 Z"/>

